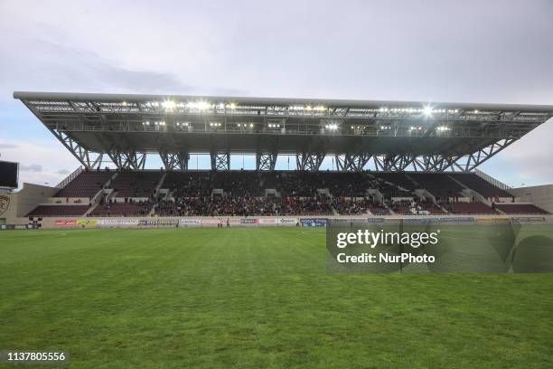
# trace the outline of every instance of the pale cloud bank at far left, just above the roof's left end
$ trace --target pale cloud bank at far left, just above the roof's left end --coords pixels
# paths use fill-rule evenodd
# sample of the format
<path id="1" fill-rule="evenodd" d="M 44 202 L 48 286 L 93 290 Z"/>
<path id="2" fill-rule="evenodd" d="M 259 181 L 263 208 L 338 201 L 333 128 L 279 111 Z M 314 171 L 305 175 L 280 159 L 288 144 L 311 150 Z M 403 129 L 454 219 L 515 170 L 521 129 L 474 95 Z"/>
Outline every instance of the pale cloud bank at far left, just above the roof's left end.
<path id="1" fill-rule="evenodd" d="M 26 48 L 21 48 L 21 42 Z M 131 71 L 110 64 L 93 52 L 56 43 L 0 34 L 0 42 L 12 43 L 11 58 L 2 58 L 5 71 L 0 86 L 17 86 L 18 90 L 99 90 L 158 93 L 188 93 L 192 87 L 179 77 L 160 71 Z M 19 46 L 19 47 L 18 47 Z M 43 70 L 49 70 L 44 73 Z M 9 73 L 7 72 L 9 71 Z M 23 78 L 22 78 L 23 77 Z M 6 91 L 8 92 L 8 91 Z"/>

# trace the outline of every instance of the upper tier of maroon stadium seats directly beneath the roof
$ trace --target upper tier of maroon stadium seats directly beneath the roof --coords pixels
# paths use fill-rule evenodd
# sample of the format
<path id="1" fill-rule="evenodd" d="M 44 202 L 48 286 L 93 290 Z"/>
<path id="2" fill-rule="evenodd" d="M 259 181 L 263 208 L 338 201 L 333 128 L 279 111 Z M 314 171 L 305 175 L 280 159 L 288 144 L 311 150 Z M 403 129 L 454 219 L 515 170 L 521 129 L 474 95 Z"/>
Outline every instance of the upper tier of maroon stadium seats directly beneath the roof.
<path id="1" fill-rule="evenodd" d="M 82 171 L 55 196 L 92 197 L 112 175 L 107 170 Z M 117 197 L 150 197 L 162 175 L 162 171 L 123 171 L 109 188 L 117 192 Z M 334 196 L 361 197 L 367 189 L 379 188 L 382 194 L 392 197 L 424 188 L 436 197 L 455 197 L 464 189 L 460 184 L 484 197 L 511 197 L 473 174 L 189 171 L 169 172 L 162 186 L 184 196 L 211 195 L 213 188 L 232 195 L 263 196 L 264 189 L 270 188 L 284 196 L 304 197 L 314 196 L 317 188 L 327 188 Z"/>

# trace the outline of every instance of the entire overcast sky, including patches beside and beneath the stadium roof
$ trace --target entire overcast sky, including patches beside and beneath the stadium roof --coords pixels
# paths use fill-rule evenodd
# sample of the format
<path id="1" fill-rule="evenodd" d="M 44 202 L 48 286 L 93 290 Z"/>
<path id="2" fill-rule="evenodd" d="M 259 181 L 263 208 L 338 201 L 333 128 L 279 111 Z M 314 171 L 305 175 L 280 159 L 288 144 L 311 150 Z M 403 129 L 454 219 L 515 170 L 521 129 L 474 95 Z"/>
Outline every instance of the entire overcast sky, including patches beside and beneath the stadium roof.
<path id="1" fill-rule="evenodd" d="M 49 185 L 80 165 L 14 90 L 553 105 L 552 35 L 551 0 L 0 0 L 0 160 Z M 551 184 L 552 138 L 480 169 Z"/>

